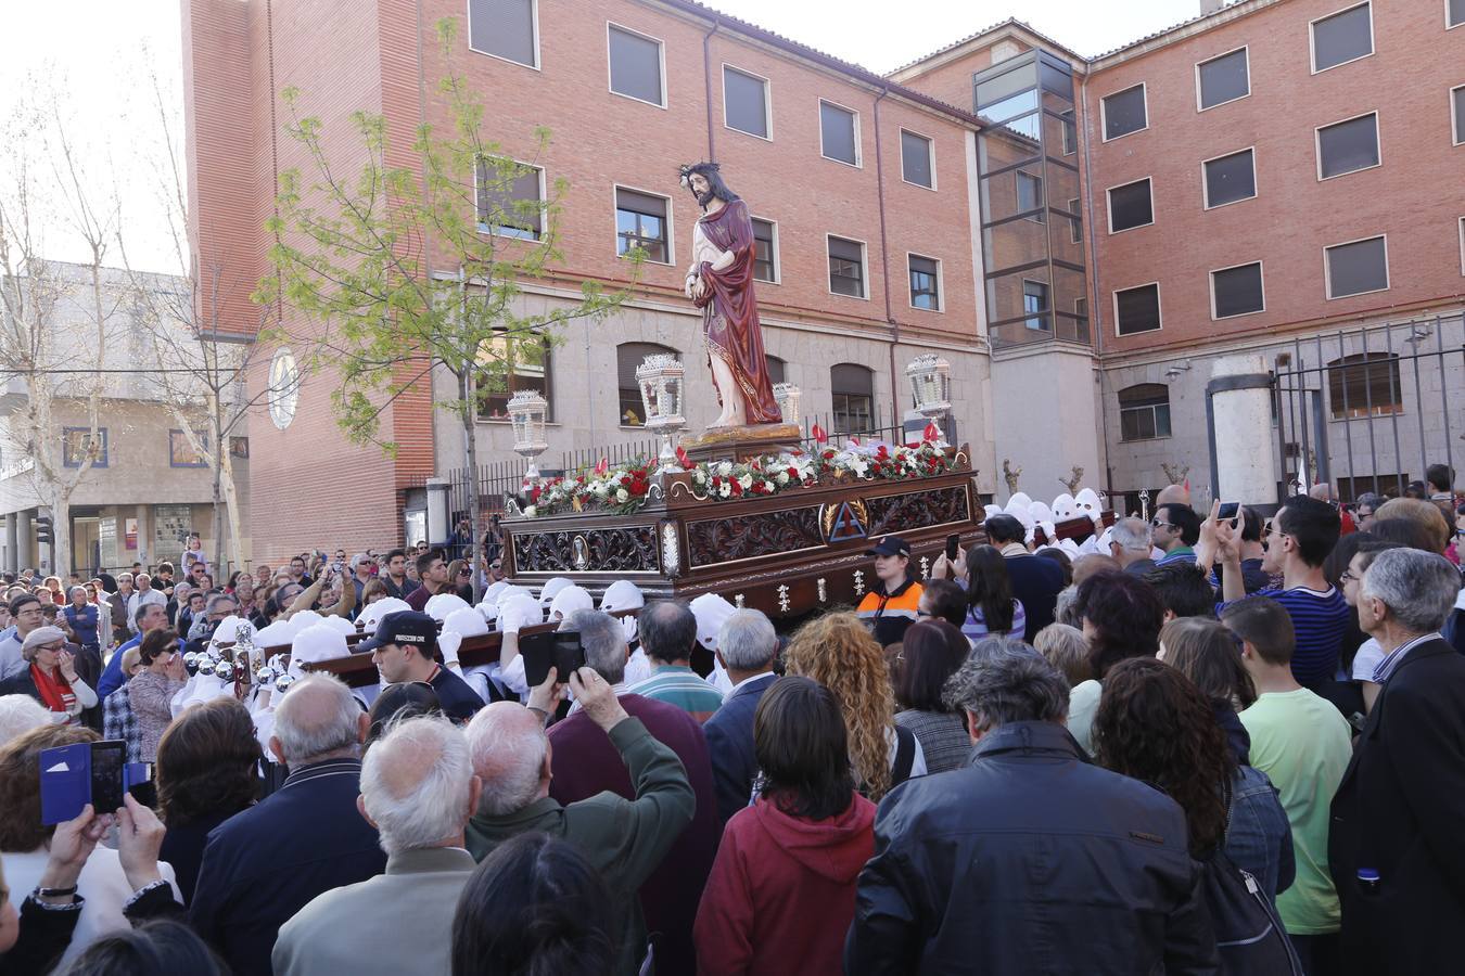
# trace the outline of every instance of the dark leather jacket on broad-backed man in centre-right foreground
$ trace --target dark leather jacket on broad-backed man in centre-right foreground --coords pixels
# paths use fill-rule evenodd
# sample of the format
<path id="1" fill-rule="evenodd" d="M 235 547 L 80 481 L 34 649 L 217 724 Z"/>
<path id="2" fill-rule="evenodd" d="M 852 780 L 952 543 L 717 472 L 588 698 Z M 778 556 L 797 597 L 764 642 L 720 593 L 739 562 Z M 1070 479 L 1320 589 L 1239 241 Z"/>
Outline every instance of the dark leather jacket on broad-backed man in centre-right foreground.
<path id="1" fill-rule="evenodd" d="M 1200 872 L 1173 800 L 1011 723 L 880 802 L 845 972 L 1213 973 Z"/>

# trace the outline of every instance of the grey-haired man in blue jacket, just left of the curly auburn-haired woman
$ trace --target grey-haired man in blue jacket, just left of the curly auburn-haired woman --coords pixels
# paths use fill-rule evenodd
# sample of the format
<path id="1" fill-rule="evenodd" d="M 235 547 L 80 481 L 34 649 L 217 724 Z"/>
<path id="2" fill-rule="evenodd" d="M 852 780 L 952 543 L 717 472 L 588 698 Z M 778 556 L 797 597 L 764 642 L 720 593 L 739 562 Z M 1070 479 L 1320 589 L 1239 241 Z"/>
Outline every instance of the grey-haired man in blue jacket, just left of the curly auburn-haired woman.
<path id="1" fill-rule="evenodd" d="M 712 757 L 718 821 L 724 825 L 749 805 L 757 758 L 753 755 L 753 714 L 763 692 L 778 679 L 778 634 L 759 610 L 737 610 L 718 632 L 718 661 L 732 682 L 732 694 L 702 730 Z"/>

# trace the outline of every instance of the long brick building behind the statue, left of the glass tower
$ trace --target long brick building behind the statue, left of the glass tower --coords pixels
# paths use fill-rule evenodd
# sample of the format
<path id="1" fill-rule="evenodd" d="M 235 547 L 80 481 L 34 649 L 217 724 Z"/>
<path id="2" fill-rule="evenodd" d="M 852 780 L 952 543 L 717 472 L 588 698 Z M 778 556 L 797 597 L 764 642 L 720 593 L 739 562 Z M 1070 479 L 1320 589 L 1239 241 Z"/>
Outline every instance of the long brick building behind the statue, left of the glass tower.
<path id="1" fill-rule="evenodd" d="M 459 35 L 444 63 L 434 23 L 448 16 Z M 267 272 L 275 174 L 303 164 L 271 92 L 299 88 L 349 167 L 349 113 L 379 111 L 397 133 L 442 123 L 448 108 L 431 92 L 451 72 L 486 94 L 505 155 L 539 167 L 541 183 L 568 181 L 564 259 L 524 301 L 626 281 L 618 255 L 630 240 L 649 253 L 620 315 L 565 328 L 546 361 L 513 378 L 551 402 L 541 467 L 557 467 L 557 452 L 646 440 L 630 380 L 656 348 L 689 367 L 691 429 L 713 418 L 700 318 L 681 296 L 697 208 L 677 165 L 716 158 L 765 237 L 757 293 L 775 382 L 800 386 L 806 417 L 860 430 L 910 408 L 905 363 L 938 350 L 952 363 L 957 436 L 973 443 L 982 490 L 995 489 L 970 111 L 687 0 L 384 0 L 366 16 L 321 0 L 190 0 L 185 61 L 195 260 L 226 269 L 242 328 L 258 322 L 246 296 Z M 554 133 L 541 155 L 536 126 Z M 287 350 L 274 369 L 286 395 L 252 436 L 256 558 L 381 546 L 404 519 L 419 524 L 423 478 L 464 455 L 456 418 L 434 416 L 432 389 L 391 407 L 382 436 L 401 451 L 388 459 L 335 432 L 330 376 L 289 382 Z M 485 398 L 476 427 L 488 461 L 513 457 L 502 399 Z"/>

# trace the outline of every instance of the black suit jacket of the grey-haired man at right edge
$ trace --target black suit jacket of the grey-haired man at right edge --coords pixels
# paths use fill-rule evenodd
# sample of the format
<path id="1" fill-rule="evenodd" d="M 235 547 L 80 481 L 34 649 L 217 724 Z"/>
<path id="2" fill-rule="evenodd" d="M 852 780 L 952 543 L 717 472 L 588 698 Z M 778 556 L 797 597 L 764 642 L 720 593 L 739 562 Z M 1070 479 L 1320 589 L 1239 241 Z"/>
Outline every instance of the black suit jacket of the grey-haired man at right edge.
<path id="1" fill-rule="evenodd" d="M 1459 972 L 1465 931 L 1465 657 L 1412 648 L 1383 683 L 1333 797 L 1327 866 L 1349 972 Z M 1379 872 L 1376 891 L 1360 869 Z"/>

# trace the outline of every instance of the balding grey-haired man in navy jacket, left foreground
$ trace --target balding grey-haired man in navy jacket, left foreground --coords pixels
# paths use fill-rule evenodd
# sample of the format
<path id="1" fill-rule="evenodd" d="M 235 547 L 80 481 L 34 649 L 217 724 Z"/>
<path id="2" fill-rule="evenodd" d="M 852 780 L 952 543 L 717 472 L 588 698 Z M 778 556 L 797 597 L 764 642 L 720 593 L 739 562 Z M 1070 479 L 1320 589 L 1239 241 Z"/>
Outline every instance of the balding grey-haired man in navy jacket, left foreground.
<path id="1" fill-rule="evenodd" d="M 208 836 L 189 906 L 236 975 L 270 976 L 280 926 L 316 896 L 385 868 L 377 828 L 356 809 L 369 724 L 333 675 L 302 677 L 275 707 L 270 751 L 290 776 Z"/>

